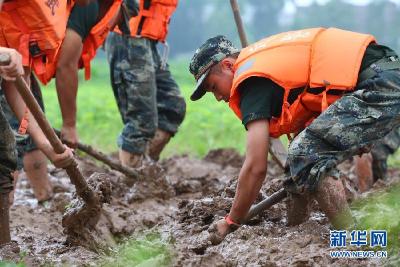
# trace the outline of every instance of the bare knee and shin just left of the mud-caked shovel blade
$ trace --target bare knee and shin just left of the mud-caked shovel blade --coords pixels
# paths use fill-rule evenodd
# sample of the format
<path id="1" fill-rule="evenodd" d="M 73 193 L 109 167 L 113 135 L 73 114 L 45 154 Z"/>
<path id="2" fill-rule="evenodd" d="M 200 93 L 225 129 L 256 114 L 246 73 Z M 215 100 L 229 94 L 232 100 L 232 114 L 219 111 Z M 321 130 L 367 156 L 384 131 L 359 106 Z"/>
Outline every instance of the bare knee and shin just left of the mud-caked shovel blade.
<path id="1" fill-rule="evenodd" d="M 53 187 L 47 173 L 47 158 L 42 151 L 36 149 L 24 155 L 24 170 L 33 193 L 39 202 L 53 197 Z"/>

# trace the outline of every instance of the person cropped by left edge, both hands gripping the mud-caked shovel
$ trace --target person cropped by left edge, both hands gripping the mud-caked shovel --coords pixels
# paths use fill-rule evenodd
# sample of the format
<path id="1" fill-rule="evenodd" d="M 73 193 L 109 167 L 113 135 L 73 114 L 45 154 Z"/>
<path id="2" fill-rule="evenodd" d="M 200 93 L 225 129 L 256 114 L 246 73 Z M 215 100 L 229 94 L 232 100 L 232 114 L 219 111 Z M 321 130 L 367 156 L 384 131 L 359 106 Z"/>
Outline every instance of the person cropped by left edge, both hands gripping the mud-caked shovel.
<path id="1" fill-rule="evenodd" d="M 6 81 L 2 82 L 2 89 L 9 105 L 22 119 L 25 105 L 21 96 L 12 86 L 12 81 L 18 75 L 24 75 L 22 57 L 14 49 L 0 47 L 0 53 L 10 55 L 11 61 L 7 66 L 0 66 L 0 77 Z M 40 150 L 54 163 L 56 167 L 65 167 L 71 164 L 72 151 L 66 147 L 64 153 L 56 154 L 49 141 L 43 135 L 32 115 L 29 116 L 28 132 L 32 136 Z M 14 133 L 5 118 L 0 106 L 0 245 L 10 242 L 9 225 L 9 194 L 13 190 L 12 173 L 17 167 L 17 152 Z"/>

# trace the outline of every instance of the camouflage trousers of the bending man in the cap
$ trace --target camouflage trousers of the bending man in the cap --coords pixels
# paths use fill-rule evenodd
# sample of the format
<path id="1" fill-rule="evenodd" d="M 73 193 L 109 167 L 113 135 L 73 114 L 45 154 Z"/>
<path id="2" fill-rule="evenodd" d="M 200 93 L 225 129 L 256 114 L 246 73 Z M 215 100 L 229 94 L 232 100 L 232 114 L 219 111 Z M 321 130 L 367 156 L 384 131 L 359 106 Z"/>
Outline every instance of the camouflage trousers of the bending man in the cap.
<path id="1" fill-rule="evenodd" d="M 291 186 L 313 191 L 324 177 L 338 177 L 337 164 L 382 145 L 399 126 L 400 71 L 381 71 L 358 83 L 293 139 L 286 168 Z"/>

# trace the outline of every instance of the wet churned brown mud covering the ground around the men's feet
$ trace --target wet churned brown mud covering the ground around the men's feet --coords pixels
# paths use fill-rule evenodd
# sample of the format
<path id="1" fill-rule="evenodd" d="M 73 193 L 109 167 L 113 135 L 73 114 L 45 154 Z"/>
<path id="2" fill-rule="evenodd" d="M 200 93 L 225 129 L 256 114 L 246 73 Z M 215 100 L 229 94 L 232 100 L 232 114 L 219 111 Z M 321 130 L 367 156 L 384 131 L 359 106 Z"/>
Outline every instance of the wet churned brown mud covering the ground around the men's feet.
<path id="1" fill-rule="evenodd" d="M 99 223 L 85 239 L 74 240 L 64 233 L 62 215 L 71 204 L 73 186 L 62 170 L 50 168 L 54 198 L 39 205 L 26 179 L 17 185 L 11 208 L 12 239 L 0 248 L 0 258 L 23 260 L 28 266 L 96 266 L 96 260 L 118 240 L 141 231 L 157 231 L 170 240 L 175 251 L 174 266 L 382 266 L 379 260 L 335 260 L 329 256 L 329 223 L 312 205 L 311 217 L 298 226 L 287 226 L 286 204 L 279 203 L 256 216 L 218 245 L 210 242 L 208 229 L 230 208 L 243 157 L 234 150 L 211 151 L 205 159 L 177 156 L 149 168 L 148 179 L 135 184 L 116 171 L 88 158 L 79 159 L 85 177 L 109 180 L 112 191 Z M 390 179 L 359 193 L 354 167 L 344 163 L 349 201 L 400 182 L 398 170 Z M 282 171 L 269 164 L 267 179 L 257 201 L 281 186 Z M 93 185 L 97 185 L 95 182 Z M 102 191 L 97 188 L 97 191 Z M 107 201 L 106 201 L 107 200 Z M 79 228 L 79 227 L 78 227 Z M 78 229 L 81 230 L 81 229 Z M 85 234 L 83 236 L 85 236 Z M 72 235 L 73 236 L 73 235 Z M 80 233 L 80 236 L 81 233 Z M 91 242 L 96 247 L 93 250 Z"/>

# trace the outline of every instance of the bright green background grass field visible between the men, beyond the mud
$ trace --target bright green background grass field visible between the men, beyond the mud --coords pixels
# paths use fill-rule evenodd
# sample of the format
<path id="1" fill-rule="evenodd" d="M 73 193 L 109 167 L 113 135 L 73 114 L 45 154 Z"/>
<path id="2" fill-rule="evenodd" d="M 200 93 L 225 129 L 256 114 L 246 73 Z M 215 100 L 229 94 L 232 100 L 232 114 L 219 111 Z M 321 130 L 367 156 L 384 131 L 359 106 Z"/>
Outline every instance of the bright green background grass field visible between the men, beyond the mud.
<path id="1" fill-rule="evenodd" d="M 189 100 L 194 79 L 188 71 L 187 60 L 171 62 L 171 71 L 187 103 L 187 113 L 179 132 L 163 152 L 202 156 L 210 149 L 233 147 L 244 152 L 245 130 L 226 103 L 218 103 L 207 95 L 204 99 Z M 54 83 L 42 89 L 46 114 L 52 125 L 59 128 L 61 115 Z M 84 81 L 82 73 L 78 91 L 78 132 L 82 142 L 105 152 L 117 150 L 116 138 L 122 128 L 114 95 L 109 81 L 109 68 L 105 59 L 92 63 L 92 79 Z"/>

